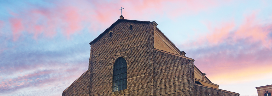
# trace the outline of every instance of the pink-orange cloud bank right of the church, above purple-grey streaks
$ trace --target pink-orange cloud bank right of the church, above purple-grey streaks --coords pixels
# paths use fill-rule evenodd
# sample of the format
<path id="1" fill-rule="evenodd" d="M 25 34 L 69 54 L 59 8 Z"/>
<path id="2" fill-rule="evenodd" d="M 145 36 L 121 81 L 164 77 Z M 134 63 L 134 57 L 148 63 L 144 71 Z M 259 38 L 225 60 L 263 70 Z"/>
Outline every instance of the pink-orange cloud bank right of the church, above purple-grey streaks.
<path id="1" fill-rule="evenodd" d="M 262 24 L 261 20 L 255 18 L 255 14 L 246 16 L 241 25 L 235 24 L 233 21 L 218 24 L 216 28 L 211 28 L 207 24 L 209 34 L 198 37 L 196 41 L 181 45 L 182 47 L 201 47 L 201 46 L 217 46 L 222 43 L 235 44 L 241 39 L 245 39 L 247 43 L 260 42 L 263 47 L 271 49 L 272 24 Z"/>

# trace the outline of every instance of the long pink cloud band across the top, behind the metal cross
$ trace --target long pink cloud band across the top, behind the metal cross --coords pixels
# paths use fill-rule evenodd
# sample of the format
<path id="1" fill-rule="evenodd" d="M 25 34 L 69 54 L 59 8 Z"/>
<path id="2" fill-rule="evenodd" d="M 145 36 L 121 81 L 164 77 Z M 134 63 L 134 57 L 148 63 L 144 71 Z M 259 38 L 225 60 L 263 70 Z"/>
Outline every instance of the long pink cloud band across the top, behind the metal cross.
<path id="1" fill-rule="evenodd" d="M 177 18 L 181 14 L 195 14 L 215 8 L 229 1 L 55 1 L 55 7 L 33 8 L 18 12 L 10 12 L 14 18 L 10 20 L 14 33 L 14 40 L 17 40 L 22 31 L 27 31 L 37 39 L 41 34 L 45 37 L 54 37 L 57 30 L 69 37 L 84 28 L 89 29 L 93 34 L 96 31 L 104 31 L 110 24 L 118 19 L 120 6 L 125 7 L 124 16 L 126 19 L 137 18 L 147 19 L 154 16 L 166 14 L 169 18 Z M 61 4 L 60 4 L 61 3 Z M 173 5 L 174 4 L 174 5 Z M 137 15 L 136 15 L 137 14 Z M 149 15 L 146 15 L 149 14 Z M 115 19 L 113 19 L 115 18 Z M 94 32 L 95 31 L 95 32 Z"/>

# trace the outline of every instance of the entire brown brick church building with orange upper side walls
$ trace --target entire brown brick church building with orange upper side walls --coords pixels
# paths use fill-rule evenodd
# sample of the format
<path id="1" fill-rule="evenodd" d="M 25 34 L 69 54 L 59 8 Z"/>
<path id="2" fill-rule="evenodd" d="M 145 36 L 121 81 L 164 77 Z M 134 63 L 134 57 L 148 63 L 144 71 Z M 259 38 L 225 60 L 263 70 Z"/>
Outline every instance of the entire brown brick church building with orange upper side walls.
<path id="1" fill-rule="evenodd" d="M 219 89 L 156 26 L 121 15 L 89 43 L 88 70 L 62 96 L 239 96 Z"/>

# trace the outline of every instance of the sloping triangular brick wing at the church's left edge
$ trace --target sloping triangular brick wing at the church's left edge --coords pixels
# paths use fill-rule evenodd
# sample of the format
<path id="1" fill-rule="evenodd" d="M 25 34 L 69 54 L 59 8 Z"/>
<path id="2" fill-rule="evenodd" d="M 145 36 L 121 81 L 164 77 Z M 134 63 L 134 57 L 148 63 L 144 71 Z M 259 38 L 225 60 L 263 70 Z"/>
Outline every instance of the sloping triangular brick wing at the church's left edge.
<path id="1" fill-rule="evenodd" d="M 89 70 L 72 84 L 62 96 L 88 96 L 89 95 Z"/>

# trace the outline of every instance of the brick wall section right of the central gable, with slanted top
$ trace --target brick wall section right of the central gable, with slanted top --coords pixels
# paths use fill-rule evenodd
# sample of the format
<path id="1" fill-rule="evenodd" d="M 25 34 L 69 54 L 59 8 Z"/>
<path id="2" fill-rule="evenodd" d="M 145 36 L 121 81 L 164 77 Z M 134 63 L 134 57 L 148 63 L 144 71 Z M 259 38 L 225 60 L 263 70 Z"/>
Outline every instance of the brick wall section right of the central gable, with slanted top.
<path id="1" fill-rule="evenodd" d="M 164 52 L 154 52 L 156 95 L 193 96 L 193 62 Z"/>

